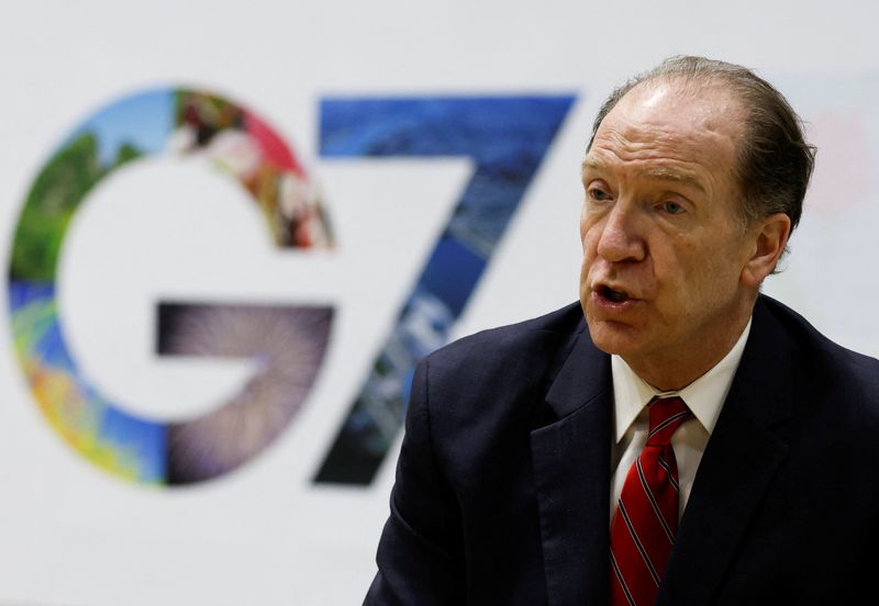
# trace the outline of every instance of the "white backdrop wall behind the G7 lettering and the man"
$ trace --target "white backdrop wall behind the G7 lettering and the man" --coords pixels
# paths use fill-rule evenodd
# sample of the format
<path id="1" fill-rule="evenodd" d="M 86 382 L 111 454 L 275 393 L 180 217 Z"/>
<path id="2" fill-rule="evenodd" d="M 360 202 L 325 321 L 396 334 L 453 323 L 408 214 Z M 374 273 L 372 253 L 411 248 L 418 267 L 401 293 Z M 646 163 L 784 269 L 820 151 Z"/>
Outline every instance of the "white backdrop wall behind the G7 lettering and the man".
<path id="1" fill-rule="evenodd" d="M 275 255 L 244 194 L 186 162 L 146 160 L 89 194 L 63 249 L 59 314 L 85 371 L 133 411 L 185 417 L 252 372 L 157 359 L 157 298 L 330 302 L 332 340 L 307 404 L 262 456 L 211 482 L 156 489 L 102 472 L 59 439 L 0 322 L 0 603 L 363 598 L 399 446 L 368 486 L 312 476 L 472 167 L 321 158 L 327 97 L 577 96 L 453 328 L 459 336 L 576 299 L 578 168 L 613 85 L 679 53 L 755 67 L 821 148 L 788 269 L 766 290 L 843 345 L 879 355 L 877 18 L 867 0 L 4 3 L 2 267 L 40 167 L 86 116 L 153 87 L 215 90 L 270 121 L 320 183 L 337 247 Z M 126 271 L 135 262 L 140 271 Z"/>

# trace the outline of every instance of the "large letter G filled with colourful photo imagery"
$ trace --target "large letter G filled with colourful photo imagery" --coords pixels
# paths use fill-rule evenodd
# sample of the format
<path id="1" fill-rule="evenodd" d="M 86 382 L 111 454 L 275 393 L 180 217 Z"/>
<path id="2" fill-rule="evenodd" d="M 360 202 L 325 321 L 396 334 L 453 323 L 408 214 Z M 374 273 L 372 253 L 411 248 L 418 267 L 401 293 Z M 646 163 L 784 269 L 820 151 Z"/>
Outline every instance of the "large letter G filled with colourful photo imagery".
<path id="1" fill-rule="evenodd" d="M 209 158 L 251 194 L 279 247 L 330 248 L 333 237 L 314 183 L 283 139 L 252 111 L 199 91 L 155 90 L 102 109 L 37 175 L 9 268 L 14 348 L 33 397 L 52 427 L 101 469 L 138 483 L 191 484 L 236 469 L 290 422 L 321 367 L 333 310 L 164 303 L 159 354 L 248 358 L 256 374 L 227 402 L 181 423 L 141 418 L 104 397 L 65 340 L 58 256 L 91 189 L 157 154 Z"/>

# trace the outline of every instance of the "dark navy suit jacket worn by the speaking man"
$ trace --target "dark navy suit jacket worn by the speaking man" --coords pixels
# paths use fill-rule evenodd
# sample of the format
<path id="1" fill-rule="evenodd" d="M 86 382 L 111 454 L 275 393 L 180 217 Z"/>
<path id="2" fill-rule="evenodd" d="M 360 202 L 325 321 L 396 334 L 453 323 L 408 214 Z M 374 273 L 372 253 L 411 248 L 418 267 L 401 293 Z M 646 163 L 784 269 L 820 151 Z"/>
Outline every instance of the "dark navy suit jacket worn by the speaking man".
<path id="1" fill-rule="evenodd" d="M 607 604 L 612 415 L 579 305 L 427 357 L 366 604 Z M 761 296 L 657 604 L 879 599 L 877 453 L 879 362 Z"/>

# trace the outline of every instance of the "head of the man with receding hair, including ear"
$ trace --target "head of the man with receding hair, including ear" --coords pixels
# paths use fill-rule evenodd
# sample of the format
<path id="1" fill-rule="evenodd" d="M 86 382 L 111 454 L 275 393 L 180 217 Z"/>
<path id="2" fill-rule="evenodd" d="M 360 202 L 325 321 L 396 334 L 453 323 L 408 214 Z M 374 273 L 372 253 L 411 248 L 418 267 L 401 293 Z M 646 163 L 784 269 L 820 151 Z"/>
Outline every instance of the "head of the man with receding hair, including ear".
<path id="1" fill-rule="evenodd" d="M 744 68 L 675 58 L 614 91 L 582 172 L 596 345 L 660 389 L 716 363 L 799 221 L 812 158 L 783 98 Z"/>

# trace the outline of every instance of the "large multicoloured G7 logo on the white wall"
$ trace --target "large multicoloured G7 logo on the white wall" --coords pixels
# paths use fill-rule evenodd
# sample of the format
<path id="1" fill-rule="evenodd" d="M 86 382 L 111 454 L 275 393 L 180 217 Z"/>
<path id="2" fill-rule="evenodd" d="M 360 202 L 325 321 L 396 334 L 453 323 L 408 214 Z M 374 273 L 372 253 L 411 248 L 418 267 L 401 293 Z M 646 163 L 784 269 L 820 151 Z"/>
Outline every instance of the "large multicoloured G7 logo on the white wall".
<path id="1" fill-rule="evenodd" d="M 371 482 L 402 426 L 412 368 L 446 343 L 572 102 L 570 96 L 322 100 L 323 158 L 464 156 L 474 175 L 314 482 Z M 168 152 L 207 155 L 243 184 L 279 247 L 333 246 L 316 188 L 257 114 L 199 91 L 147 91 L 88 119 L 42 168 L 15 229 L 9 296 L 15 352 L 53 428 L 105 471 L 179 485 L 227 473 L 280 435 L 308 399 L 333 310 L 160 302 L 160 355 L 256 358 L 260 370 L 225 403 L 185 422 L 145 419 L 102 396 L 70 354 L 58 316 L 62 243 L 96 183 L 137 158 Z M 283 340 L 299 344 L 294 356 L 278 347 Z M 245 423 L 247 439 L 235 435 Z"/>

